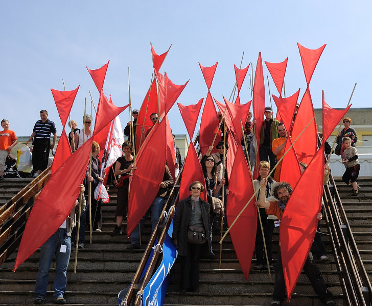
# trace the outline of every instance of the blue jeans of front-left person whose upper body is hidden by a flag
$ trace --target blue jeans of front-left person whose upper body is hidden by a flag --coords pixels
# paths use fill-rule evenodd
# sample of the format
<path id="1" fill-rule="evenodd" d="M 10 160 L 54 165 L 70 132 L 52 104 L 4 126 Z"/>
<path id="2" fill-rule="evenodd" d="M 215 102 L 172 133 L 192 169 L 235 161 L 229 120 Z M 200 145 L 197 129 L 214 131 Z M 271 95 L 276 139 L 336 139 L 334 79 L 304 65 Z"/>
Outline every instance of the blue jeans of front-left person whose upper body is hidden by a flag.
<path id="1" fill-rule="evenodd" d="M 61 252 L 61 245 L 66 246 L 66 251 Z M 66 272 L 71 253 L 71 238 L 67 236 L 65 228 L 59 228 L 41 247 L 39 272 L 36 277 L 35 297 L 45 299 L 49 282 L 49 268 L 53 256 L 56 255 L 56 275 L 54 277 L 53 297 L 63 297 L 66 291 Z"/>

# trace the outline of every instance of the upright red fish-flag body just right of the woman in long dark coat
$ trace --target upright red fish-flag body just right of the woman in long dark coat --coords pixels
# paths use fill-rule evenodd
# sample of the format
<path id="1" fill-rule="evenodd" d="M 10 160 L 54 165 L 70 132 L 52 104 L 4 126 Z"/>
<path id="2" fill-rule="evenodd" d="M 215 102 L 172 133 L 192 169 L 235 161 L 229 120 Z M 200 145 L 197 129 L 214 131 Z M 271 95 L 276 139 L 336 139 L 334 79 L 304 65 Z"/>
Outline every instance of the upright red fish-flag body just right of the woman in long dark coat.
<path id="1" fill-rule="evenodd" d="M 254 193 L 251 180 L 242 180 L 249 177 L 250 171 L 245 159 L 244 152 L 240 146 L 236 152 L 233 170 L 229 178 L 229 191 L 227 195 L 228 205 L 226 211 L 227 224 L 238 216 Z M 233 241 L 240 266 L 245 279 L 248 279 L 250 264 L 253 256 L 255 234 L 257 230 L 257 209 L 254 207 L 253 198 L 233 227 L 230 228 L 231 241 Z"/>

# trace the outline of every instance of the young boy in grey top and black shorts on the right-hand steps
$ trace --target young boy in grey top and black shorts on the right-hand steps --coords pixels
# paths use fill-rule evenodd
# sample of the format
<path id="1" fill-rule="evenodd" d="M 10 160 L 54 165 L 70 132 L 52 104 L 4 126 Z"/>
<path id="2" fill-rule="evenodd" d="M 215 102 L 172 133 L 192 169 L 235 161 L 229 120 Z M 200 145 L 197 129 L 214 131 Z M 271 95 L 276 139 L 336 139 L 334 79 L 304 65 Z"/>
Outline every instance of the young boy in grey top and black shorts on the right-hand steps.
<path id="1" fill-rule="evenodd" d="M 342 144 L 345 146 L 343 151 L 342 163 L 347 165 L 345 173 L 342 175 L 342 181 L 347 185 L 353 186 L 354 196 L 358 195 L 358 175 L 360 170 L 360 163 L 358 161 L 358 152 L 355 147 L 352 146 L 352 139 L 350 137 L 344 137 Z"/>

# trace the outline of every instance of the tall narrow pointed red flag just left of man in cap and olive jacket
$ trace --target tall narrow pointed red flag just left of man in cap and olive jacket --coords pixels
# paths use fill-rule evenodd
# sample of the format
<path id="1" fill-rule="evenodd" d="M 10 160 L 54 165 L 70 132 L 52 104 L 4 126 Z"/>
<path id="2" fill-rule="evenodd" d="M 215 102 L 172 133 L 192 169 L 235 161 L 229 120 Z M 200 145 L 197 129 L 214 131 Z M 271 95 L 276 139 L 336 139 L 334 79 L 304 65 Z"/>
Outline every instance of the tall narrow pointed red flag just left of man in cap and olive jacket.
<path id="1" fill-rule="evenodd" d="M 260 146 L 261 139 L 261 127 L 264 122 L 264 111 L 265 111 L 265 84 L 264 84 L 264 72 L 262 70 L 262 59 L 261 52 L 259 53 L 259 59 L 257 60 L 257 67 L 254 75 L 254 86 L 253 86 L 253 114 L 257 120 L 255 124 L 255 134 L 257 144 Z M 257 162 L 260 163 L 260 155 L 257 154 Z"/>

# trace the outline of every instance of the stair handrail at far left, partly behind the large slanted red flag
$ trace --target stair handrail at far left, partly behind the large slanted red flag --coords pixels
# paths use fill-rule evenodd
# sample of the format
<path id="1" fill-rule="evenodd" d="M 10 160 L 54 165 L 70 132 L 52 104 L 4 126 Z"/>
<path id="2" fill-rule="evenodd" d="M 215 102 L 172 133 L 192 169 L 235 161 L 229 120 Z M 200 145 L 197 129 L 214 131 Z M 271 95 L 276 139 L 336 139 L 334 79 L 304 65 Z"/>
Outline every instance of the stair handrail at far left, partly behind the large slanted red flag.
<path id="1" fill-rule="evenodd" d="M 49 180 L 51 167 L 41 172 L 35 180 L 0 208 L 0 265 L 19 246 L 31 208 L 40 190 Z"/>

